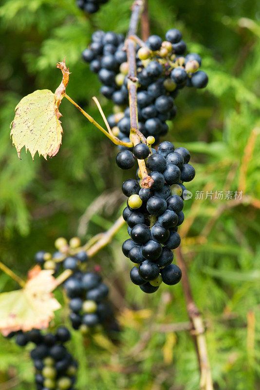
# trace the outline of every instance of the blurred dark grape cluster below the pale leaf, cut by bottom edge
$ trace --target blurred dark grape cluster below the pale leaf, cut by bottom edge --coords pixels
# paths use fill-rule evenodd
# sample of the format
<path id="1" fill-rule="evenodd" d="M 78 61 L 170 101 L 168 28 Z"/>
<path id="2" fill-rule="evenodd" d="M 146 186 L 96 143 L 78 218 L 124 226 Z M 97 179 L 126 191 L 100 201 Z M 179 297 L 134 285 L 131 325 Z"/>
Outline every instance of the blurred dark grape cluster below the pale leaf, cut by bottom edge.
<path id="1" fill-rule="evenodd" d="M 23 347 L 29 342 L 36 345 L 31 351 L 31 358 L 36 370 L 37 390 L 74 389 L 77 362 L 64 346 L 70 338 L 70 331 L 64 326 L 57 328 L 55 334 L 44 334 L 38 329 L 16 333 L 16 343 L 19 346 Z"/>

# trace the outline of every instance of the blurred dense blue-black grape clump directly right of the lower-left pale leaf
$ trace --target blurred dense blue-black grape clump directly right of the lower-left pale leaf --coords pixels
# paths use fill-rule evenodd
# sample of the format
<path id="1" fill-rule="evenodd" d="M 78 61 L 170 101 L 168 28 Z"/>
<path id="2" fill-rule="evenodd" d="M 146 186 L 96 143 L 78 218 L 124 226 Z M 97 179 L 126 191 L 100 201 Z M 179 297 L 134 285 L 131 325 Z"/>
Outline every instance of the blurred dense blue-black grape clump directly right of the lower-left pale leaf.
<path id="1" fill-rule="evenodd" d="M 82 334 L 100 331 L 101 324 L 109 320 L 112 310 L 107 296 L 108 286 L 96 272 L 76 272 L 64 282 L 70 298 L 70 319 L 74 329 Z"/>

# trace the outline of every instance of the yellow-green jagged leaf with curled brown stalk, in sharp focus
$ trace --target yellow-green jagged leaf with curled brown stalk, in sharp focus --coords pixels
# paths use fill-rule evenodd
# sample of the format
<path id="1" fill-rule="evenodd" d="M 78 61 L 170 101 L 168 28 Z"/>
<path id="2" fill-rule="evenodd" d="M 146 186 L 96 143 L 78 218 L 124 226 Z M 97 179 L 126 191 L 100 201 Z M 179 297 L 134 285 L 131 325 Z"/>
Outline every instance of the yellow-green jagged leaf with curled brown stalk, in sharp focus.
<path id="1" fill-rule="evenodd" d="M 69 69 L 65 59 L 57 63 L 62 71 L 62 81 L 55 94 L 48 90 L 37 90 L 22 98 L 15 109 L 15 118 L 11 123 L 11 138 L 20 158 L 23 146 L 29 150 L 33 159 L 38 151 L 39 156 L 53 157 L 58 153 L 62 127 L 59 118 L 59 104 L 69 82 Z"/>

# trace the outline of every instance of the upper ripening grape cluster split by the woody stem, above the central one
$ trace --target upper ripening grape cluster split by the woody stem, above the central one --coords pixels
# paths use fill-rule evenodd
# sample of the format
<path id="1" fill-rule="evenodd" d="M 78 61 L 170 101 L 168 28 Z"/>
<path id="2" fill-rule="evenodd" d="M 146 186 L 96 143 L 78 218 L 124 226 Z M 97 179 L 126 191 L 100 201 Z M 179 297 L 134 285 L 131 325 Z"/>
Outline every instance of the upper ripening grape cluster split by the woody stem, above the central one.
<path id="1" fill-rule="evenodd" d="M 155 137 L 155 143 L 167 134 L 166 122 L 176 115 L 175 98 L 180 89 L 204 88 L 208 81 L 206 73 L 199 70 L 201 57 L 196 53 L 185 56 L 181 32 L 172 28 L 165 38 L 151 35 L 144 46 L 137 45 L 136 53 L 138 126 L 145 137 Z M 122 37 L 97 31 L 82 55 L 104 84 L 100 92 L 116 105 L 116 113 L 108 117 L 113 134 L 129 142 L 128 62 Z"/>

